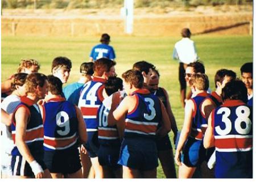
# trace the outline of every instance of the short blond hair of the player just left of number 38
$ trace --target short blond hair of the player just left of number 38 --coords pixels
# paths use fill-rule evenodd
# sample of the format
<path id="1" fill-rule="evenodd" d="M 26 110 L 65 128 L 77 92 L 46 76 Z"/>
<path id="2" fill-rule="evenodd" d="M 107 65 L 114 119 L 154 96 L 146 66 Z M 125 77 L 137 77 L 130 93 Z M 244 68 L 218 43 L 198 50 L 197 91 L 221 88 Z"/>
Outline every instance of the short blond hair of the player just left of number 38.
<path id="1" fill-rule="evenodd" d="M 198 90 L 208 90 L 209 79 L 206 74 L 194 74 L 189 80 L 191 86 L 195 86 Z"/>

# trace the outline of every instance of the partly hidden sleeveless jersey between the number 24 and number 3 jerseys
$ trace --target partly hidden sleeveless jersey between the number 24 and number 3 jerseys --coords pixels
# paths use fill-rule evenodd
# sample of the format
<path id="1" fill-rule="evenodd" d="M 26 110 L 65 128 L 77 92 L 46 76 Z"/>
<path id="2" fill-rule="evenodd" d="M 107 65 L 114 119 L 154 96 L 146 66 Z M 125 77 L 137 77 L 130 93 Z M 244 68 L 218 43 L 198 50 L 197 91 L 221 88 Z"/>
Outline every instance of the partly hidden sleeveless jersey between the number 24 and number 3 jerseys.
<path id="1" fill-rule="evenodd" d="M 112 104 L 112 96 L 107 97 L 98 109 L 98 142 L 105 146 L 120 146 L 117 126 L 108 126 L 108 115 Z"/>

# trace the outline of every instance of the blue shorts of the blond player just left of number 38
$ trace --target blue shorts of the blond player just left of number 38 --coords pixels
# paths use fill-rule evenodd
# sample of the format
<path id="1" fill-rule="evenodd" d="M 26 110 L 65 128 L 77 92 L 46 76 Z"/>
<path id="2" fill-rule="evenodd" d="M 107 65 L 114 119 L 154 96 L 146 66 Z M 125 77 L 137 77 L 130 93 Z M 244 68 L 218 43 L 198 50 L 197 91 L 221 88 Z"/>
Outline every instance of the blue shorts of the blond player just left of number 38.
<path id="1" fill-rule="evenodd" d="M 188 137 L 183 147 L 181 162 L 188 167 L 197 167 L 205 160 L 203 141 Z"/>

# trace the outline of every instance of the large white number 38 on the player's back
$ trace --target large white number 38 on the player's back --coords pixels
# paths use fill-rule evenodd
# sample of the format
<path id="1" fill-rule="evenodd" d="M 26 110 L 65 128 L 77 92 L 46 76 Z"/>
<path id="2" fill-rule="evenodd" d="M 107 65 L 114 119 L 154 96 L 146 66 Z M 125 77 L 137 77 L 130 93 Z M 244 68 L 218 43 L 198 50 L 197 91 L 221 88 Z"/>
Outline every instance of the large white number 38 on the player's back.
<path id="1" fill-rule="evenodd" d="M 224 112 L 224 114 L 222 114 Z M 221 129 L 220 126 L 216 126 L 215 130 L 220 135 L 227 135 L 232 130 L 232 122 L 229 120 L 230 109 L 223 107 L 217 111 L 217 114 L 222 114 L 222 122 L 225 124 L 225 129 Z M 237 118 L 234 122 L 234 128 L 239 134 L 248 134 L 251 130 L 250 109 L 246 106 L 240 106 L 236 109 Z M 242 128 L 242 122 L 246 125 Z"/>

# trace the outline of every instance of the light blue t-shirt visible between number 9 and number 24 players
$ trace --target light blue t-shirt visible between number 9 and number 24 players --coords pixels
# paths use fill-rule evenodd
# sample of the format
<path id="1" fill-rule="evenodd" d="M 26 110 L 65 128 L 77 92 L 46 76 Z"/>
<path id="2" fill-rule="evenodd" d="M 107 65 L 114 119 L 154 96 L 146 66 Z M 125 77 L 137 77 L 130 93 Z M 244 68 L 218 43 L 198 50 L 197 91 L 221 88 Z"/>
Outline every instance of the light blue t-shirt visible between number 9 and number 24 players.
<path id="1" fill-rule="evenodd" d="M 64 87 L 63 93 L 65 99 L 75 105 L 78 105 L 82 86 L 84 86 L 83 83 L 75 82 L 72 84 L 68 84 L 66 87 Z"/>

